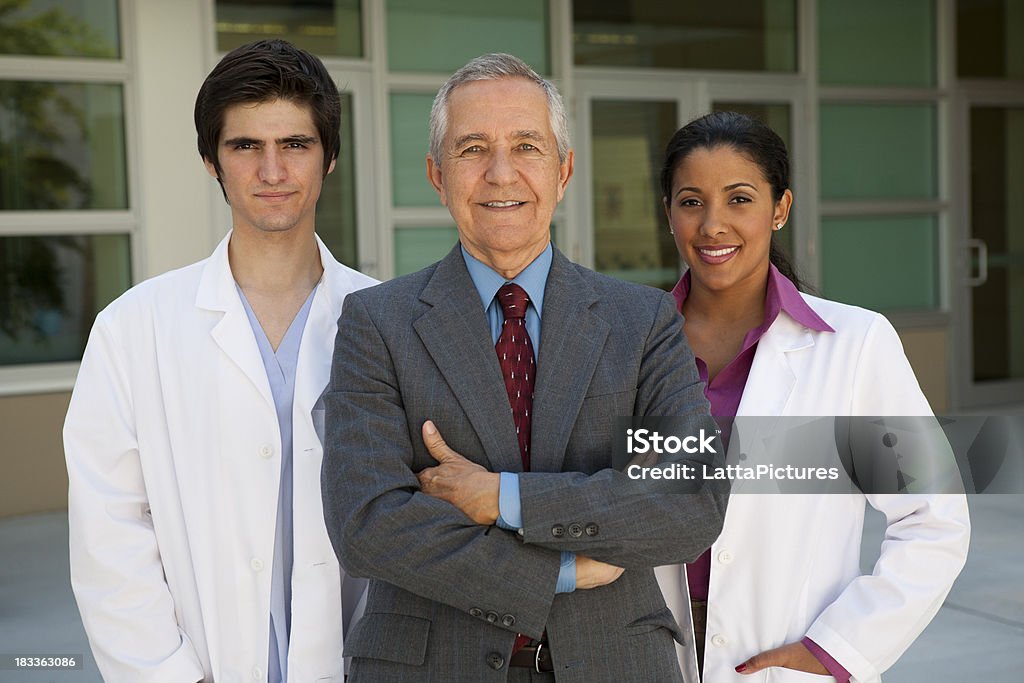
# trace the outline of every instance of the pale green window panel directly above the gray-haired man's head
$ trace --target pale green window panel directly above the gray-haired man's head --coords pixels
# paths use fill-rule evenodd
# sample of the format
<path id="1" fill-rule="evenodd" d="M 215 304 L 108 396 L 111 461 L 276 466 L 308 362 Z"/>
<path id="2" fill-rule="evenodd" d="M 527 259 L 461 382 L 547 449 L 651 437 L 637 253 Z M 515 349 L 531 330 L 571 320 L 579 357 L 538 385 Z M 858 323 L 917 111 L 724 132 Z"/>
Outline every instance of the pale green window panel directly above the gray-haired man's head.
<path id="1" fill-rule="evenodd" d="M 473 57 L 509 52 L 550 74 L 546 0 L 387 0 L 388 69 L 451 74 Z"/>

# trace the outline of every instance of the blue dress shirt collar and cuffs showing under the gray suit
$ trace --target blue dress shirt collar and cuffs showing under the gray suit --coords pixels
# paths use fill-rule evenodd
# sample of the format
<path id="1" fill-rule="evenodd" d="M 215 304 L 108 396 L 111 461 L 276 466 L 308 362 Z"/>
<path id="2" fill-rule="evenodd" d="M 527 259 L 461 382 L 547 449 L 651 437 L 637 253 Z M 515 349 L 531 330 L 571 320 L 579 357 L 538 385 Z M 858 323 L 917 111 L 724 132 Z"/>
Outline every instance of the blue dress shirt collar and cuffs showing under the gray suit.
<path id="1" fill-rule="evenodd" d="M 498 274 L 490 266 L 476 259 L 462 248 L 462 256 L 466 260 L 469 276 L 480 295 L 480 303 L 487 313 L 490 326 L 490 341 L 498 343 L 502 335 L 502 325 L 505 323 L 505 312 L 495 299 L 498 290 L 507 282 L 513 282 L 526 291 L 529 305 L 526 307 L 526 332 L 534 346 L 534 360 L 541 348 L 541 312 L 544 310 L 544 288 L 548 284 L 548 273 L 551 271 L 551 244 L 541 252 L 522 272 L 512 281 L 507 281 Z M 502 472 L 498 488 L 498 525 L 506 529 L 522 528 L 522 502 L 519 498 L 519 475 L 514 472 Z M 562 551 L 561 567 L 558 570 L 558 581 L 555 593 L 571 593 L 575 590 L 575 554 Z"/>

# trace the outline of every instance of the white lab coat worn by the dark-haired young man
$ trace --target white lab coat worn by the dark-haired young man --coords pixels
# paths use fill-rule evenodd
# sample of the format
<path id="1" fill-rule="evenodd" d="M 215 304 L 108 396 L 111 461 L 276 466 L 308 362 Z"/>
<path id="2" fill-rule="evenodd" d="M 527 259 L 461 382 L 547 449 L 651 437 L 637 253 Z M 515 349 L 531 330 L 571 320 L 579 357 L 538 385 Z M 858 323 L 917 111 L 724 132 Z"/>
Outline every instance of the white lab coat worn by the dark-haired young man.
<path id="1" fill-rule="evenodd" d="M 72 585 L 109 682 L 266 680 L 281 431 L 229 239 L 99 313 L 68 411 Z M 317 246 L 293 409 L 292 681 L 343 677 L 313 423 L 342 300 L 375 282 Z"/>

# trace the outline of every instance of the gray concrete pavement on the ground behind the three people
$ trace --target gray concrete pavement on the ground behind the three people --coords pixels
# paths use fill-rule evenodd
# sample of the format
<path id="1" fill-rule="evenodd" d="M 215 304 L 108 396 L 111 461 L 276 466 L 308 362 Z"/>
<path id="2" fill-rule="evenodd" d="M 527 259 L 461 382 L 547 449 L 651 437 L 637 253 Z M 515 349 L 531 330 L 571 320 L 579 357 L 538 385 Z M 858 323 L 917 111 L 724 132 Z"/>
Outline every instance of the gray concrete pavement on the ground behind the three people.
<path id="1" fill-rule="evenodd" d="M 1024 496 L 971 497 L 967 566 L 935 621 L 883 677 L 886 683 L 1024 680 Z M 884 524 L 869 510 L 863 566 Z M 63 512 L 0 519 L 0 654 L 76 654 L 76 671 L 0 669 L 0 683 L 98 683 L 75 606 Z M 714 682 L 711 682 L 714 683 Z"/>

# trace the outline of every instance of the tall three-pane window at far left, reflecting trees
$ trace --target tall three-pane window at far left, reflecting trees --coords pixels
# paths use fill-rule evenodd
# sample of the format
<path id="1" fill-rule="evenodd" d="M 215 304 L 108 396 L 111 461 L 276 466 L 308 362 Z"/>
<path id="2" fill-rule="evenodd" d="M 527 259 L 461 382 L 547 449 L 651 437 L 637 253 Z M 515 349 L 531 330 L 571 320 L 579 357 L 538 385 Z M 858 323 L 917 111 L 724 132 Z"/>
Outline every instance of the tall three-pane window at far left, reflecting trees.
<path id="1" fill-rule="evenodd" d="M 116 0 L 28 0 L 0 34 L 0 368 L 81 358 L 131 286 Z M 56 59 L 54 59 L 54 57 Z"/>

